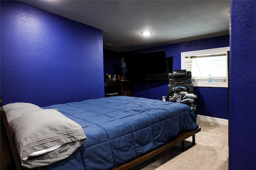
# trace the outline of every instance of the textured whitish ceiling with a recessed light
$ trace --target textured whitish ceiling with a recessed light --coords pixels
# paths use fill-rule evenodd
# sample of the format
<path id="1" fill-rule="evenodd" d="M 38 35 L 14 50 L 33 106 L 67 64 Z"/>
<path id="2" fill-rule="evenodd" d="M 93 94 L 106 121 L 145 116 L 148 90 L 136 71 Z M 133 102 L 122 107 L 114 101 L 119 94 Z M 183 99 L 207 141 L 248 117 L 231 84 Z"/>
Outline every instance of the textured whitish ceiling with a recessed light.
<path id="1" fill-rule="evenodd" d="M 102 29 L 104 49 L 119 53 L 229 34 L 229 0 L 21 2 Z M 144 36 L 142 31 L 152 35 Z"/>

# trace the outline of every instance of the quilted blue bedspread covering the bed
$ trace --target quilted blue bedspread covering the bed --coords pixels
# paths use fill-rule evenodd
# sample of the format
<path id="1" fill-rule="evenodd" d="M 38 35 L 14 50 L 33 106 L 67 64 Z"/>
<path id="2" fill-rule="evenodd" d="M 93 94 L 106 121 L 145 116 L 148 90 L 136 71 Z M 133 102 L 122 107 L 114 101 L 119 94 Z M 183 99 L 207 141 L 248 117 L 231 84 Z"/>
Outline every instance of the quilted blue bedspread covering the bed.
<path id="1" fill-rule="evenodd" d="M 47 170 L 108 170 L 198 127 L 190 107 L 146 98 L 114 96 L 56 104 L 84 129 L 86 141 Z"/>

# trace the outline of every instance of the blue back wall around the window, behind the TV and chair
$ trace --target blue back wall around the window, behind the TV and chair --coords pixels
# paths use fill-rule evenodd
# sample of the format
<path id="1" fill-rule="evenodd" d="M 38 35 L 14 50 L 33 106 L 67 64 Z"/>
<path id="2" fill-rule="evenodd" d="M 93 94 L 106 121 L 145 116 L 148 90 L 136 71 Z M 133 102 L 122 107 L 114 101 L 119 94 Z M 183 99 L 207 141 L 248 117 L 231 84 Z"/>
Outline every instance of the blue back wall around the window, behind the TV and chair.
<path id="1" fill-rule="evenodd" d="M 148 51 L 166 50 L 166 57 L 172 57 L 173 70 L 181 68 L 180 53 L 203 49 L 229 47 L 229 35 L 188 41 L 160 47 L 129 51 L 123 54 L 142 53 Z M 172 72 L 172 70 L 169 70 Z M 134 82 L 132 96 L 162 100 L 168 94 L 168 81 Z M 198 96 L 197 112 L 199 115 L 228 119 L 228 88 L 194 87 Z"/>

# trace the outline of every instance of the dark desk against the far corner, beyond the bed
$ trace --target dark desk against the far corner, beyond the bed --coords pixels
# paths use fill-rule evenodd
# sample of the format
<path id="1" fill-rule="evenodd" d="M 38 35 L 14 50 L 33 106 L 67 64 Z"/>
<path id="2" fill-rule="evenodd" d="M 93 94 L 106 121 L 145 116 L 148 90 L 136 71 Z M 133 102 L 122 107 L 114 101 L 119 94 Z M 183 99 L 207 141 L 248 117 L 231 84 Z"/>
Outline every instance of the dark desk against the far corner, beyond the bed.
<path id="1" fill-rule="evenodd" d="M 104 86 L 105 86 L 105 97 L 110 96 L 106 94 L 110 94 L 110 93 L 112 94 L 114 92 L 118 92 L 118 94 L 114 96 L 132 96 L 132 90 L 131 90 L 129 80 L 105 82 Z"/>

